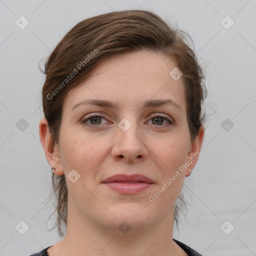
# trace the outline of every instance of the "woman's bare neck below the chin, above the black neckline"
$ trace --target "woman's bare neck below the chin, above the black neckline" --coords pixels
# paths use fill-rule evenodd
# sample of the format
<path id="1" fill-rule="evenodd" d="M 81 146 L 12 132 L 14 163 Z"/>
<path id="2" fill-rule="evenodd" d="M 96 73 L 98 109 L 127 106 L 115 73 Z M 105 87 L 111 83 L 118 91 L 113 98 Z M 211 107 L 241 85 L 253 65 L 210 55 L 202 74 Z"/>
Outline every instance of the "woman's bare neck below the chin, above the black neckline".
<path id="1" fill-rule="evenodd" d="M 121 232 L 118 228 L 95 223 L 79 214 L 72 205 L 68 208 L 65 236 L 47 252 L 52 256 L 186 255 L 172 240 L 173 213 L 174 210 L 153 224 Z"/>

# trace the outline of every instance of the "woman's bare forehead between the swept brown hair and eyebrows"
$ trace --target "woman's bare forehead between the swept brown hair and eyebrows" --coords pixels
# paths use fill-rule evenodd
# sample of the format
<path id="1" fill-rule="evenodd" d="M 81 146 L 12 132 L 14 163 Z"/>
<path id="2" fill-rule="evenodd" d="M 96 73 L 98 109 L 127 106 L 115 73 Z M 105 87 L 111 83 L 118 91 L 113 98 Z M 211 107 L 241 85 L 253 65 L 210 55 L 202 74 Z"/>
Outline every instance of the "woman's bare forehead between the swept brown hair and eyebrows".
<path id="1" fill-rule="evenodd" d="M 147 50 L 111 55 L 94 67 L 85 82 L 69 91 L 64 105 L 70 109 L 78 101 L 98 98 L 131 107 L 147 99 L 169 98 L 183 109 L 182 76 L 174 80 L 169 74 L 174 67 L 170 57 Z"/>

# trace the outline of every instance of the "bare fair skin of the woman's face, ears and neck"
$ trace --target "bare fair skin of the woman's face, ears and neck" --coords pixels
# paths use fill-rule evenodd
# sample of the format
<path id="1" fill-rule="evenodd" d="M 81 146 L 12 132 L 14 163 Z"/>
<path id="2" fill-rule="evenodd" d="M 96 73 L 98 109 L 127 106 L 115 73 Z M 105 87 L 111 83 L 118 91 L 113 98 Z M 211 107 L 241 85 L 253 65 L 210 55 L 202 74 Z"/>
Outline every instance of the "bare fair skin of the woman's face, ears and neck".
<path id="1" fill-rule="evenodd" d="M 66 234 L 47 250 L 49 255 L 186 255 L 172 240 L 174 202 L 198 158 L 154 202 L 148 199 L 198 154 L 204 135 L 201 126 L 190 141 L 183 80 L 172 79 L 173 67 L 168 56 L 147 50 L 111 56 L 66 96 L 58 145 L 52 144 L 46 119 L 40 121 L 40 140 L 54 173 L 66 176 L 75 169 L 80 175 L 74 183 L 66 177 Z M 92 98 L 117 107 L 81 104 L 72 109 Z M 170 104 L 141 108 L 149 99 L 171 99 L 181 110 Z M 102 118 L 88 119 L 85 125 L 81 120 L 90 113 Z M 157 123 L 152 113 L 173 124 L 161 118 Z M 126 131 L 118 126 L 123 118 L 131 124 Z M 143 174 L 154 184 L 127 195 L 101 183 L 119 173 Z M 123 221 L 131 227 L 126 233 L 118 228 Z"/>

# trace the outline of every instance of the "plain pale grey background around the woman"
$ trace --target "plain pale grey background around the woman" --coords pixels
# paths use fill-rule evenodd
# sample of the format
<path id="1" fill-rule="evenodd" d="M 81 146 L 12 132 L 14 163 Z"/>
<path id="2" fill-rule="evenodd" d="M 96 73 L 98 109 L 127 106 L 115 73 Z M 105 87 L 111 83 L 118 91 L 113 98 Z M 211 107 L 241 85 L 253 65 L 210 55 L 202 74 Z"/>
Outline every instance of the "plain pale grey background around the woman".
<path id="1" fill-rule="evenodd" d="M 204 256 L 256 255 L 256 0 L 1 0 L 0 255 L 29 255 L 60 239 L 56 229 L 46 231 L 54 218 L 47 221 L 51 170 L 38 134 L 39 60 L 78 21 L 124 9 L 176 22 L 206 69 L 205 139 L 185 179 L 188 212 L 174 238 Z M 21 15 L 29 21 L 24 29 L 15 23 Z M 234 21 L 229 29 L 221 24 L 227 15 Z M 21 220 L 29 226 L 24 234 L 15 228 Z M 234 226 L 229 234 L 222 231 L 230 231 L 229 223 L 220 228 L 226 220 Z"/>

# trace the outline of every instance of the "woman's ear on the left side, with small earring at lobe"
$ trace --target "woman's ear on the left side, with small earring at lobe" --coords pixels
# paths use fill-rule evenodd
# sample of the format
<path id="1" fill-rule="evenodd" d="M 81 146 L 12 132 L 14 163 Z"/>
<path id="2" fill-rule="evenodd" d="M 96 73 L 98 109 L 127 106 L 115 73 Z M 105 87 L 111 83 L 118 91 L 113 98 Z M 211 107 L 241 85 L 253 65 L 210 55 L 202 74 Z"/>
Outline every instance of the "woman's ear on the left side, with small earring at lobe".
<path id="1" fill-rule="evenodd" d="M 54 174 L 62 175 L 64 174 L 63 166 L 60 159 L 59 147 L 57 144 L 53 144 L 48 122 L 45 118 L 42 118 L 39 122 L 39 135 L 41 144 L 50 167 L 56 168 Z"/>

